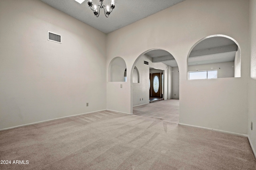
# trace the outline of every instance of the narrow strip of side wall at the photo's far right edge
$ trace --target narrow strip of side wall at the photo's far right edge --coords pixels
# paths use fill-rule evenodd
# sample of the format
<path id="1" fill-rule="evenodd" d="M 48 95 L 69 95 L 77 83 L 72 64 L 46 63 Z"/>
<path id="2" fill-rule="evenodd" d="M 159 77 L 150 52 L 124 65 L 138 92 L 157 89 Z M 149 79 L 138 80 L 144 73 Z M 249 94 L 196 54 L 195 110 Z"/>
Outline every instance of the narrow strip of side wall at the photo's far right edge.
<path id="1" fill-rule="evenodd" d="M 256 0 L 250 0 L 250 80 L 248 135 L 256 156 Z M 250 124 L 253 123 L 251 130 Z"/>

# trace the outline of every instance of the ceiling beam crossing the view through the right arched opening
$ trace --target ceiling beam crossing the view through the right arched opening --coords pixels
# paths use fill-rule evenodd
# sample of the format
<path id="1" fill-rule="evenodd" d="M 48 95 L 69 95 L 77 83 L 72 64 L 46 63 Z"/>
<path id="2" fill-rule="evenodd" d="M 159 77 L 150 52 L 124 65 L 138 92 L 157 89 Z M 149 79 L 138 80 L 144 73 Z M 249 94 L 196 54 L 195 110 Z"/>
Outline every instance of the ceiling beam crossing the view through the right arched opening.
<path id="1" fill-rule="evenodd" d="M 201 49 L 201 50 L 192 50 L 189 57 L 198 57 L 202 55 L 212 55 L 218 53 L 227 53 L 232 51 L 237 51 L 238 46 L 236 44 L 225 45 L 221 47 L 214 47 L 209 49 Z"/>

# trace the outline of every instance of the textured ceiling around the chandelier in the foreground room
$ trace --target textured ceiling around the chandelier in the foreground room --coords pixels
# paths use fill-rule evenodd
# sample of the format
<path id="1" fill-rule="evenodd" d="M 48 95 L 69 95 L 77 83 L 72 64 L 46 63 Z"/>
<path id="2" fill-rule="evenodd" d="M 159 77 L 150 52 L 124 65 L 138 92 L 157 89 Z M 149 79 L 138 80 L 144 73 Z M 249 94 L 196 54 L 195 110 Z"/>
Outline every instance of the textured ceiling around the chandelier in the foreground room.
<path id="1" fill-rule="evenodd" d="M 115 8 L 108 18 L 100 10 L 96 18 L 88 6 L 88 0 L 79 4 L 75 0 L 41 0 L 42 2 L 104 32 L 110 33 L 152 14 L 160 12 L 184 0 L 115 0 Z M 99 0 L 92 0 L 100 4 Z M 104 5 L 110 5 L 111 0 L 104 0 Z"/>

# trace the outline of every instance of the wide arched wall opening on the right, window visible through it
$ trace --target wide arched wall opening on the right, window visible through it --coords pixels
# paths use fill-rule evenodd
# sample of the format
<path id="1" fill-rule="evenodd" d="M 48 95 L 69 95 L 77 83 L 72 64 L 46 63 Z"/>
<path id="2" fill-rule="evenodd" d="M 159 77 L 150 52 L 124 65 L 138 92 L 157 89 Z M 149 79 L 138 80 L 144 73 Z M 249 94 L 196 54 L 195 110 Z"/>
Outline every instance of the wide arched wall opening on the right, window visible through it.
<path id="1" fill-rule="evenodd" d="M 188 80 L 241 77 L 238 43 L 226 35 L 210 35 L 198 41 L 188 54 Z"/>

